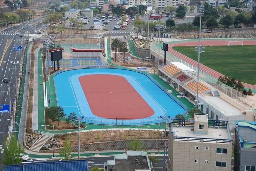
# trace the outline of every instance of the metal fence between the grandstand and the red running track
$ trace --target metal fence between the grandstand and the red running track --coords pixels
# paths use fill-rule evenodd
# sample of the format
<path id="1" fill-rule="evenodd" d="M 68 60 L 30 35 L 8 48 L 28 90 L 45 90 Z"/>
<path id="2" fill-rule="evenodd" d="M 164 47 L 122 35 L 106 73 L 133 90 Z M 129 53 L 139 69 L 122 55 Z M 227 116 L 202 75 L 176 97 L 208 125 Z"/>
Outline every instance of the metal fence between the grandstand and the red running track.
<path id="1" fill-rule="evenodd" d="M 172 42 L 172 43 L 176 43 L 176 42 L 185 42 L 185 41 L 175 41 L 175 42 Z M 151 50 L 158 54 L 158 46 L 159 46 L 159 44 L 155 44 L 154 46 L 151 46 Z M 161 50 L 161 49 L 160 49 L 160 56 L 162 58 L 164 58 L 164 51 Z M 193 66 L 189 62 L 184 61 L 183 59 L 175 56 L 174 54 L 171 54 L 171 53 L 167 52 L 166 58 L 170 62 L 180 62 L 180 63 L 183 63 L 184 65 L 192 68 L 193 70 L 197 71 L 196 66 Z M 199 79 L 201 81 L 206 82 L 207 84 L 211 85 L 215 89 L 221 91 L 222 93 L 226 94 L 227 96 L 235 99 L 236 101 L 238 101 L 242 105 L 245 105 L 248 109 L 252 109 L 252 106 L 250 105 L 251 100 L 248 99 L 246 95 L 244 95 L 244 94 L 238 92 L 237 90 L 223 84 L 222 82 L 219 82 L 218 79 L 214 78 L 213 76 L 211 76 L 211 75 L 205 73 L 204 71 L 200 70 Z"/>

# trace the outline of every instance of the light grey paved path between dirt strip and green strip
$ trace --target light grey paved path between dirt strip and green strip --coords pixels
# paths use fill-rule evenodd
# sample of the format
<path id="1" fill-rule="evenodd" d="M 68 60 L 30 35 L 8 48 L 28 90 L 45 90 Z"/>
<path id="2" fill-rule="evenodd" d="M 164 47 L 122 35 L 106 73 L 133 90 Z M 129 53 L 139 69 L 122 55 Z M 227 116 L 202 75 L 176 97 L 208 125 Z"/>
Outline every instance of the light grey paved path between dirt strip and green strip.
<path id="1" fill-rule="evenodd" d="M 38 130 L 38 48 L 35 51 L 35 69 L 34 69 L 34 95 L 33 95 L 33 116 L 32 116 L 32 129 Z M 41 58 L 42 60 L 42 58 Z M 43 74 L 43 73 L 40 73 Z"/>

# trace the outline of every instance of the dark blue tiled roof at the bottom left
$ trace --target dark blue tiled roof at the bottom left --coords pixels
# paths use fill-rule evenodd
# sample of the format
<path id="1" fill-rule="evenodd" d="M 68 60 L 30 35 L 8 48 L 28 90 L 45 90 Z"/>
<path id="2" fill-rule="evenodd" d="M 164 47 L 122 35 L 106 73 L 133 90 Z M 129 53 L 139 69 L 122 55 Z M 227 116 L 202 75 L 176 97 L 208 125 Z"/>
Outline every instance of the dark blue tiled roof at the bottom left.
<path id="1" fill-rule="evenodd" d="M 88 171 L 87 160 L 46 161 L 6 165 L 4 171 Z"/>

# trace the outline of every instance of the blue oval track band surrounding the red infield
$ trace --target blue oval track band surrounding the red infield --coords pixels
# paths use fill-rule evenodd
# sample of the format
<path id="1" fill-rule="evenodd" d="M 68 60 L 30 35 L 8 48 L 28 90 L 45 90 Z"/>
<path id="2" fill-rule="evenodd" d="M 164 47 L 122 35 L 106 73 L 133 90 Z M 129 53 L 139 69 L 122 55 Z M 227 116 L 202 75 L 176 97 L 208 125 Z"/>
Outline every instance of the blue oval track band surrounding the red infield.
<path id="1" fill-rule="evenodd" d="M 169 117 L 174 117 L 179 113 L 185 113 L 184 108 L 177 104 L 145 74 L 114 68 L 76 69 L 56 74 L 54 81 L 58 105 L 64 108 L 66 114 L 75 112 L 78 115 L 80 113 L 84 117 L 83 122 L 105 125 L 114 125 L 116 123 L 115 119 L 97 117 L 91 112 L 78 80 L 80 76 L 89 74 L 114 74 L 123 76 L 155 112 L 154 115 L 143 119 L 118 120 L 118 125 L 159 123 L 163 122 L 160 116 L 163 117 L 165 113 Z"/>

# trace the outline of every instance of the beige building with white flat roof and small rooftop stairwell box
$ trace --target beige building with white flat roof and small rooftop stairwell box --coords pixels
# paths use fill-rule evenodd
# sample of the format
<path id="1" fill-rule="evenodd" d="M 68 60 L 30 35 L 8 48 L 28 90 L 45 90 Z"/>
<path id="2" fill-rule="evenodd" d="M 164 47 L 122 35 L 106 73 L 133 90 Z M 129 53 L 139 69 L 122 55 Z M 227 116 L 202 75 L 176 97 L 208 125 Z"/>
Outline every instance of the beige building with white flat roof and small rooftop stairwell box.
<path id="1" fill-rule="evenodd" d="M 168 171 L 230 171 L 232 135 L 228 121 L 171 119 L 168 135 Z"/>

